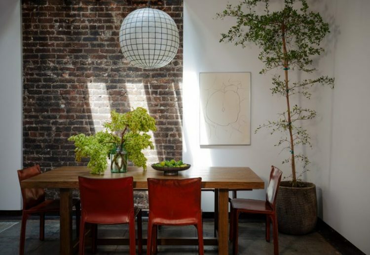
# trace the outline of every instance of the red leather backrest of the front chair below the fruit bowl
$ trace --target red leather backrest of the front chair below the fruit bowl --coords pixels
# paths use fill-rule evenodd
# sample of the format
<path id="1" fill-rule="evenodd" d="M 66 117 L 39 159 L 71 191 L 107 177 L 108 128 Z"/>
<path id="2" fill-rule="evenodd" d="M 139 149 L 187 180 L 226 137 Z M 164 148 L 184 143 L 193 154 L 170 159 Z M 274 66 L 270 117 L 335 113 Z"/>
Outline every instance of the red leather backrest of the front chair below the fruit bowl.
<path id="1" fill-rule="evenodd" d="M 148 178 L 149 215 L 163 224 L 196 222 L 196 216 L 202 213 L 201 182 L 202 178 Z"/>

